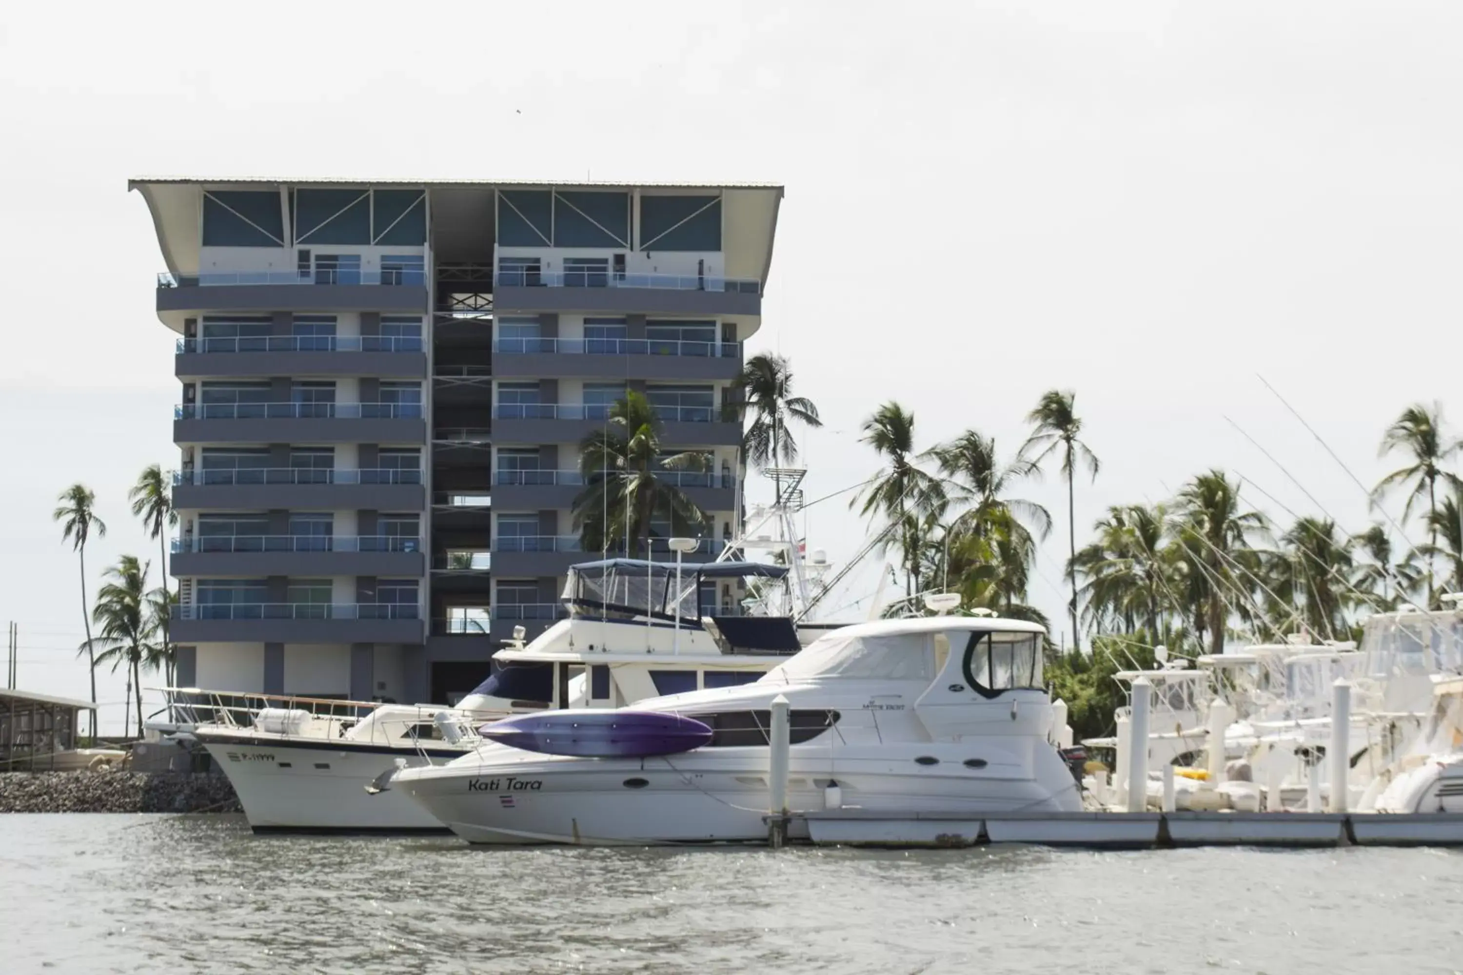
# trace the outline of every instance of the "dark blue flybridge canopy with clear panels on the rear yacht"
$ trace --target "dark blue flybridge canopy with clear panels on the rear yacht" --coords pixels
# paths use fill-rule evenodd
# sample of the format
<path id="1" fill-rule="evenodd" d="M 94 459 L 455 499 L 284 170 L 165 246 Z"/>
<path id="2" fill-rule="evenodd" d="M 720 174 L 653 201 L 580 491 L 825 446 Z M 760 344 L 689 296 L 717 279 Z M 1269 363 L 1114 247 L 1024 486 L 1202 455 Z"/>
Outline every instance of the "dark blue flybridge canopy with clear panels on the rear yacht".
<path id="1" fill-rule="evenodd" d="M 571 566 L 562 598 L 575 612 L 699 620 L 702 580 L 781 579 L 786 574 L 786 566 L 759 561 L 682 563 L 680 591 L 676 592 L 676 563 L 606 558 Z"/>

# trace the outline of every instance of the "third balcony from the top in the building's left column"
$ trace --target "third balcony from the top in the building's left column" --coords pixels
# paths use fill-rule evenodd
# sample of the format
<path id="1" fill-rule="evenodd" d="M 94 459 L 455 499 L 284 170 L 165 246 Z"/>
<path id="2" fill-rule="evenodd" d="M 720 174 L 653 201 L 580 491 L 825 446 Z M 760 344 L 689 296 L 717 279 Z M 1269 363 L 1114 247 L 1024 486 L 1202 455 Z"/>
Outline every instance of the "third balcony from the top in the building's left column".
<path id="1" fill-rule="evenodd" d="M 426 443 L 420 403 L 183 403 L 174 443 Z"/>

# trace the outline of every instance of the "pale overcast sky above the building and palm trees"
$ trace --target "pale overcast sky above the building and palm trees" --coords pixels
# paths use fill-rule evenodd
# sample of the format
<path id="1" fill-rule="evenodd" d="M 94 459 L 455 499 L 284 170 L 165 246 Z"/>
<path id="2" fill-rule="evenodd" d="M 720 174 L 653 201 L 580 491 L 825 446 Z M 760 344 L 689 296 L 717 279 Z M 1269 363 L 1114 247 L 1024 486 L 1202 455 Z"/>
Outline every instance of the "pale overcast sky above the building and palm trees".
<path id="1" fill-rule="evenodd" d="M 775 181 L 749 351 L 789 357 L 824 415 L 802 436 L 809 498 L 873 472 L 859 428 L 881 402 L 922 446 L 976 428 L 1009 456 L 1042 392 L 1071 389 L 1102 459 L 1080 544 L 1106 506 L 1208 468 L 1280 520 L 1361 528 L 1364 491 L 1258 377 L 1368 487 L 1400 466 L 1377 444 L 1404 406 L 1463 422 L 1460 34 L 1457 4 L 1339 0 L 133 3 L 82 23 L 19 4 L 0 19 L 0 256 L 20 285 L 0 621 L 20 686 L 88 696 L 59 491 L 91 485 L 108 523 L 92 592 L 119 554 L 157 561 L 126 490 L 177 463 L 174 336 L 127 177 Z M 1065 493 L 1055 471 L 1021 493 L 1058 515 L 1030 592 L 1055 626 Z M 868 531 L 846 497 L 806 513 L 834 563 Z M 120 674 L 98 693 L 120 731 Z"/>

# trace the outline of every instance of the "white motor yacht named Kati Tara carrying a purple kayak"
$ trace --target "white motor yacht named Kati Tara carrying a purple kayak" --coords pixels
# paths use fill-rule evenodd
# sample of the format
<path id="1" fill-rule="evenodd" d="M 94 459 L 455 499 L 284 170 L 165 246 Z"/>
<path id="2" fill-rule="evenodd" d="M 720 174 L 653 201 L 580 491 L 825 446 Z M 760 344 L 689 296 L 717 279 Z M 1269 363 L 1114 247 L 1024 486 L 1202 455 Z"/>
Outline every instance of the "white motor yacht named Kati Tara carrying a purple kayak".
<path id="1" fill-rule="evenodd" d="M 1049 743 L 1043 640 L 1040 626 L 993 617 L 849 626 L 755 684 L 585 710 L 557 729 L 527 719 L 540 724 L 502 737 L 537 750 L 478 744 L 398 772 L 391 789 L 474 843 L 756 841 L 783 696 L 790 810 L 1080 811 Z M 591 754 L 595 741 L 609 746 Z"/>

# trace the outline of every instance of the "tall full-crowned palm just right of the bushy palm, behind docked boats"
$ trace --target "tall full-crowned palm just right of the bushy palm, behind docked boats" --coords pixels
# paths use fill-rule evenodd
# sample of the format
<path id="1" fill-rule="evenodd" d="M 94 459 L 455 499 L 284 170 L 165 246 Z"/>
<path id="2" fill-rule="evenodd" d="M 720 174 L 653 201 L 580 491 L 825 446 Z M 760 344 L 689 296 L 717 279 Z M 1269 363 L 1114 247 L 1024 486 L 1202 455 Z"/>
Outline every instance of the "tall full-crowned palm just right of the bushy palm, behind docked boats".
<path id="1" fill-rule="evenodd" d="M 1241 569 L 1249 554 L 1249 538 L 1267 531 L 1258 512 L 1242 512 L 1239 482 L 1223 471 L 1200 474 L 1179 491 L 1179 544 L 1194 570 L 1197 595 L 1203 599 L 1204 629 L 1210 653 L 1225 652 L 1226 595 L 1248 592 Z M 1198 620 L 1195 620 L 1198 623 Z"/>

